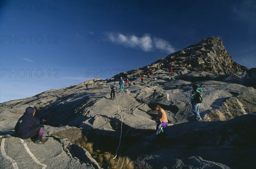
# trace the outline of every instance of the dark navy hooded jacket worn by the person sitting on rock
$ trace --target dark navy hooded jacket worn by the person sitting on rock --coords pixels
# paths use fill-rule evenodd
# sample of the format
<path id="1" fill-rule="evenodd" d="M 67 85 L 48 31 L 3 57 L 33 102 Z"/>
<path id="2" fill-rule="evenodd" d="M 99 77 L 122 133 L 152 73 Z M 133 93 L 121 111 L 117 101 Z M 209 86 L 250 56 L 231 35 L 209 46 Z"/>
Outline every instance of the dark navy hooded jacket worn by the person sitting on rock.
<path id="1" fill-rule="evenodd" d="M 33 116 L 34 111 L 34 107 L 27 107 L 24 115 L 17 121 L 14 130 L 19 138 L 29 138 L 33 128 L 40 125 L 39 118 Z"/>

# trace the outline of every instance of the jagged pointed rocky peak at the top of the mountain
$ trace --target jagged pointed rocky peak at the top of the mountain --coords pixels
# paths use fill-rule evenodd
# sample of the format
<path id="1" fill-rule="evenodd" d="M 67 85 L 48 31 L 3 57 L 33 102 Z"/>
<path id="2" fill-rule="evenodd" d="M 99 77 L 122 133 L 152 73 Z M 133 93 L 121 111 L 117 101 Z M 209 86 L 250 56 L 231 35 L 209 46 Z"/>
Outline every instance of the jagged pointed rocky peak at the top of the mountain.
<path id="1" fill-rule="evenodd" d="M 186 68 L 190 71 L 206 71 L 220 74 L 248 70 L 246 67 L 233 62 L 224 47 L 221 37 L 203 39 L 201 42 L 169 54 L 165 59 L 160 59 L 153 64 L 159 64 L 160 62 L 163 63 L 160 65 L 160 69 L 173 67 L 179 70 L 180 68 Z"/>

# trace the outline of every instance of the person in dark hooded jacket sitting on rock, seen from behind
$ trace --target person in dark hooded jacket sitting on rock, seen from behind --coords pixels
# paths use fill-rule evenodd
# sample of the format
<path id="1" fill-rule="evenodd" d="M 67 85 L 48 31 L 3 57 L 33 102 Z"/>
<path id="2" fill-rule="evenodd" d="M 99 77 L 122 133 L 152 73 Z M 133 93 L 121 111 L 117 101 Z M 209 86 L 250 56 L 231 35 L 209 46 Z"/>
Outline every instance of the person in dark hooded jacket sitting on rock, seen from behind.
<path id="1" fill-rule="evenodd" d="M 36 144 L 44 144 L 42 141 L 44 126 L 41 125 L 43 122 L 44 120 L 40 121 L 35 117 L 34 107 L 27 107 L 15 125 L 15 132 L 19 138 L 31 138 Z"/>

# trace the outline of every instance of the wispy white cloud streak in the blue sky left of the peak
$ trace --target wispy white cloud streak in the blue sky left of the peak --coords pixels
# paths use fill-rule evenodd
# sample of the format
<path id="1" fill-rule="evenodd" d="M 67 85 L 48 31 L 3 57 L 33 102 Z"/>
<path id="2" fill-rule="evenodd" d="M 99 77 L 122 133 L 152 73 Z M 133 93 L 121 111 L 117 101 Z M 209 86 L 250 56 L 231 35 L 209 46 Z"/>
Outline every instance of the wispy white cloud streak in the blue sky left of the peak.
<path id="1" fill-rule="evenodd" d="M 137 48 L 145 52 L 148 51 L 161 51 L 167 54 L 173 53 L 175 48 L 169 42 L 161 38 L 152 38 L 149 34 L 142 37 L 136 35 L 125 35 L 121 33 L 108 33 L 112 43 L 123 45 L 127 48 Z"/>

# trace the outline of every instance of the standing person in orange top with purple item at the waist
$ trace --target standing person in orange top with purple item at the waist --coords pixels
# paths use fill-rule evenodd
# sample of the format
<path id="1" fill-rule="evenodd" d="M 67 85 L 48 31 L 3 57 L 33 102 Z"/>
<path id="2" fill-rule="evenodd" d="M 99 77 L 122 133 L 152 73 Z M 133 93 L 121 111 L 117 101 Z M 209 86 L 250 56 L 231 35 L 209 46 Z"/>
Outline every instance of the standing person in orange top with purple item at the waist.
<path id="1" fill-rule="evenodd" d="M 157 110 L 156 146 L 160 148 L 164 146 L 164 138 L 166 136 L 164 130 L 168 125 L 168 119 L 165 111 L 158 104 L 155 106 L 155 110 Z"/>

